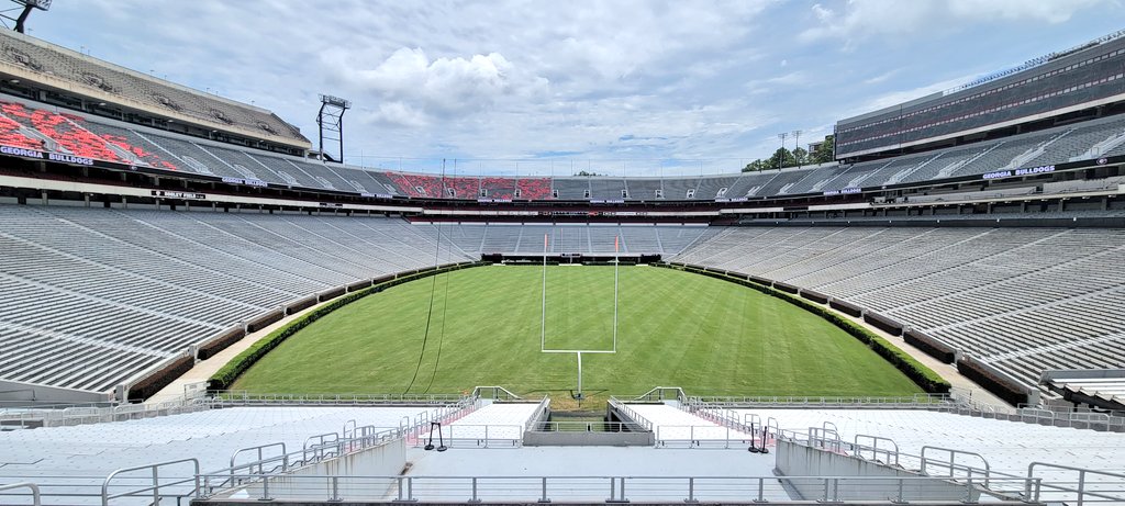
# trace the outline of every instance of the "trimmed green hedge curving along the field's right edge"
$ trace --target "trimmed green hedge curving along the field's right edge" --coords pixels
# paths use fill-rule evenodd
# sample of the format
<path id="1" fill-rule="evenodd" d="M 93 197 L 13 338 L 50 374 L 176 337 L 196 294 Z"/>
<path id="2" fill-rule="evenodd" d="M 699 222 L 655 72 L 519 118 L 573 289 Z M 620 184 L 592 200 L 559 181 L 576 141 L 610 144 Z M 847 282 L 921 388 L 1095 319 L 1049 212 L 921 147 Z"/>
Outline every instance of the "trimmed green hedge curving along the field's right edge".
<path id="1" fill-rule="evenodd" d="M 721 279 L 723 281 L 730 281 L 732 283 L 741 284 L 744 287 L 760 291 L 765 295 L 776 297 L 778 299 L 784 299 L 794 306 L 799 306 L 811 313 L 820 315 L 821 318 L 827 319 L 832 325 L 836 325 L 848 335 L 860 340 L 860 342 L 866 344 L 868 347 L 875 351 L 879 356 L 882 356 L 892 365 L 894 365 L 899 371 L 902 371 L 908 378 L 914 380 L 922 390 L 930 394 L 948 394 L 951 385 L 948 381 L 942 379 L 932 369 L 924 365 L 921 362 L 915 360 L 907 352 L 899 350 L 889 341 L 880 337 L 878 334 L 868 331 L 863 325 L 860 325 L 848 318 L 845 318 L 819 304 L 806 300 L 801 297 L 783 292 L 781 290 L 775 290 L 771 287 L 759 284 L 757 282 L 750 281 L 746 278 L 739 278 L 736 275 L 729 275 L 721 272 L 710 272 L 704 269 L 683 265 L 683 264 L 662 264 L 659 266 L 665 266 L 668 269 L 675 269 L 678 271 L 694 272 L 696 274 L 703 274 L 716 279 Z"/>

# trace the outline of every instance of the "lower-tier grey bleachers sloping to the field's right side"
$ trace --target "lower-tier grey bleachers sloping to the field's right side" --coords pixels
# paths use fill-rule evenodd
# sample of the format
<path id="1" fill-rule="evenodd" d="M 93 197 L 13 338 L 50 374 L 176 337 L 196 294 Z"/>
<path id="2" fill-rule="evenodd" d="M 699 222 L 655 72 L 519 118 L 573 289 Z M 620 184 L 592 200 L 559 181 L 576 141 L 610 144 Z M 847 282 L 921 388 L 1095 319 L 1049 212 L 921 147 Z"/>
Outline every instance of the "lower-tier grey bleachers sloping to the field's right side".
<path id="1" fill-rule="evenodd" d="M 674 260 L 854 302 L 1035 385 L 1125 367 L 1123 254 L 1122 229 L 746 227 Z"/>

